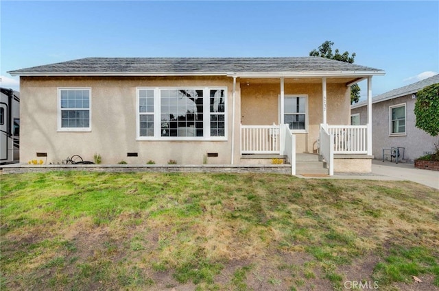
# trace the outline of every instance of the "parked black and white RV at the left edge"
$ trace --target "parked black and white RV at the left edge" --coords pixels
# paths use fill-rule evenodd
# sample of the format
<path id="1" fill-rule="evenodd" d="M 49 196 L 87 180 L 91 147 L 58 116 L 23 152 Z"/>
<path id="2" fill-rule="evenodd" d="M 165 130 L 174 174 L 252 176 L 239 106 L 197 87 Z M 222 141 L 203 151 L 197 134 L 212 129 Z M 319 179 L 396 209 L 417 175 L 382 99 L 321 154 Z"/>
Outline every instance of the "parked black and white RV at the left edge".
<path id="1" fill-rule="evenodd" d="M 19 162 L 20 94 L 0 88 L 0 164 Z"/>

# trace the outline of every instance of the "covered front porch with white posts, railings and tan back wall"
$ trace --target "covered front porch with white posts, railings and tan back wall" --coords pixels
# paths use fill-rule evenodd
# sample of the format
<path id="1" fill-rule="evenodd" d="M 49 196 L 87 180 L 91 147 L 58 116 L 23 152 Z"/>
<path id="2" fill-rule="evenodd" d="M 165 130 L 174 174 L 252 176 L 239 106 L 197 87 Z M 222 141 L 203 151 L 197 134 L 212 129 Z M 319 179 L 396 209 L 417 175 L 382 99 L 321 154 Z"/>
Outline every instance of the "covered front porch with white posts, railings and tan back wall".
<path id="1" fill-rule="evenodd" d="M 363 79 L 368 80 L 370 121 L 371 76 L 241 80 L 241 163 L 250 164 L 255 155 L 257 164 L 258 155 L 285 157 L 296 175 L 302 170 L 296 155 L 314 153 L 328 175 L 370 173 L 371 125 L 348 125 L 350 86 Z"/>

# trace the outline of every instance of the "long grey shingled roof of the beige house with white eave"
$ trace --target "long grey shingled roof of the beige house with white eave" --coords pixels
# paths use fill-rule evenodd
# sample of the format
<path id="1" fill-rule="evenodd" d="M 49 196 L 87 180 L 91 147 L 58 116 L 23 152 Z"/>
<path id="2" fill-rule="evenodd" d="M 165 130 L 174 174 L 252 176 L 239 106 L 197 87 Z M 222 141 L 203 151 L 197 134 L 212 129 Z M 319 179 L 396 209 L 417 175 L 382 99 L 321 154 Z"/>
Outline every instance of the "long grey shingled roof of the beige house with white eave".
<path id="1" fill-rule="evenodd" d="M 377 68 L 306 58 L 84 58 L 11 75 L 384 75 Z"/>

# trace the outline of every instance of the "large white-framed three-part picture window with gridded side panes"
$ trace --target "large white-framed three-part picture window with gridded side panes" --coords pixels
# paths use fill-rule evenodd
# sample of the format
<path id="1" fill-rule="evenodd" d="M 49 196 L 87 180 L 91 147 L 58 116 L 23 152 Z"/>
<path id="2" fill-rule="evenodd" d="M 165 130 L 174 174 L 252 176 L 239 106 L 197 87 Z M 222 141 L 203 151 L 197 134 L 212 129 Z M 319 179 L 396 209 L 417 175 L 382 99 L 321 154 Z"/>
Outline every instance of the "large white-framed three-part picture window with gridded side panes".
<path id="1" fill-rule="evenodd" d="M 138 88 L 139 140 L 225 140 L 225 88 Z"/>

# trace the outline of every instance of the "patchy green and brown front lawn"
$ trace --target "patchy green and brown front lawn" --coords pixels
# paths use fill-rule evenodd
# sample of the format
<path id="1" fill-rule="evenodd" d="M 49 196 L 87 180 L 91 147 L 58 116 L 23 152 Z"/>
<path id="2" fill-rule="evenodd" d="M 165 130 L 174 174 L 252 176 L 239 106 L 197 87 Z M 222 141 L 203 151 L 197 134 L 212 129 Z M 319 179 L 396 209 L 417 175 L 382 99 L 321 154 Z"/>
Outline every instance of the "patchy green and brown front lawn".
<path id="1" fill-rule="evenodd" d="M 52 172 L 0 183 L 0 290 L 439 290 L 439 191 L 410 182 Z"/>

